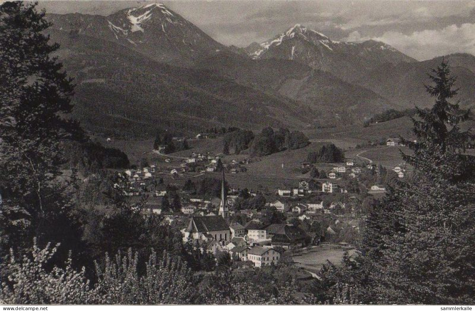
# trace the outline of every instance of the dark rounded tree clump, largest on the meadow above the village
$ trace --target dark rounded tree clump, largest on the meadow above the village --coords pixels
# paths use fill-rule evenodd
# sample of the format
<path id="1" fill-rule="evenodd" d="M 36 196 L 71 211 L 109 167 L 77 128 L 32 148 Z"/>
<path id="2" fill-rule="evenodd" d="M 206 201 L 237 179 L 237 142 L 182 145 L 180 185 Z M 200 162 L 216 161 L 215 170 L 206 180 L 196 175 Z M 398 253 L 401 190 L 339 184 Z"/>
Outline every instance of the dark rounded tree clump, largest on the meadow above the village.
<path id="1" fill-rule="evenodd" d="M 251 156 L 268 156 L 286 149 L 294 150 L 308 146 L 310 142 L 304 133 L 288 128 L 264 128 L 254 137 L 250 145 Z"/>

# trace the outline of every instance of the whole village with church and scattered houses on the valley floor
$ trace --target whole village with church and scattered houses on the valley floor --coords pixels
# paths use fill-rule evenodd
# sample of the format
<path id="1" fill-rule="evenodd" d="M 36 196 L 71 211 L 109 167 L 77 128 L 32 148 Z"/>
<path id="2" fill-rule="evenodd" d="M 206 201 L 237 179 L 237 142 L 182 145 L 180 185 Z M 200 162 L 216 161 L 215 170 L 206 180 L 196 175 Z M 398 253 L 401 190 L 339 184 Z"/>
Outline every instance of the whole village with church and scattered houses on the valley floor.
<path id="1" fill-rule="evenodd" d="M 198 134 L 187 144 L 203 146 L 206 140 L 217 138 Z M 399 138 L 382 145 L 403 147 Z M 155 162 L 142 159 L 146 166 L 123 171 L 121 182 L 114 184 L 143 214 L 161 215 L 180 230 L 184 244 L 214 257 L 227 254 L 235 268 L 285 260 L 311 277 L 318 277 L 327 260 L 338 264 L 345 252 L 354 252 L 365 209 L 384 196 L 388 183 L 410 172 L 403 163 L 383 167 L 347 157 L 321 165 L 305 161 L 298 163 L 302 178 L 290 186 L 253 189 L 228 180 L 247 172 L 255 158 L 237 161 L 228 150 L 213 153 L 199 147 L 164 154 L 167 146 L 155 147 Z"/>

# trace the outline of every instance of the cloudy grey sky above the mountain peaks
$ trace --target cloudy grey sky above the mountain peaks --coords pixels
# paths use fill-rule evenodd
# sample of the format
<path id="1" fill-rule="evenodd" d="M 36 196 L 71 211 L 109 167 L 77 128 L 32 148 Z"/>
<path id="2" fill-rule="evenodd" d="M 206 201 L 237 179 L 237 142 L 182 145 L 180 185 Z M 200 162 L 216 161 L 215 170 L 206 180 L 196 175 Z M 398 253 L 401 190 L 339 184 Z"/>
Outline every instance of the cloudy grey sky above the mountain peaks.
<path id="1" fill-rule="evenodd" d="M 50 13 L 108 15 L 156 1 L 40 1 Z M 160 1 L 225 45 L 247 46 L 303 24 L 336 41 L 383 41 L 418 60 L 475 55 L 475 0 Z"/>

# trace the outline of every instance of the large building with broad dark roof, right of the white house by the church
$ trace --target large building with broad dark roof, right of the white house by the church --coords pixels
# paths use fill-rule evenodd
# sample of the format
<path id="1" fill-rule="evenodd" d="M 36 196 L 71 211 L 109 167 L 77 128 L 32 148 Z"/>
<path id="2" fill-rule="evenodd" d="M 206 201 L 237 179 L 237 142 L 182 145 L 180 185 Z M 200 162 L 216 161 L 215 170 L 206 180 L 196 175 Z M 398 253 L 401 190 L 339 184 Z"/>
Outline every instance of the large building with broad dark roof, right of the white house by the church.
<path id="1" fill-rule="evenodd" d="M 266 228 L 267 238 L 272 241 L 272 246 L 284 248 L 305 246 L 309 237 L 305 231 L 291 224 L 275 224 Z"/>

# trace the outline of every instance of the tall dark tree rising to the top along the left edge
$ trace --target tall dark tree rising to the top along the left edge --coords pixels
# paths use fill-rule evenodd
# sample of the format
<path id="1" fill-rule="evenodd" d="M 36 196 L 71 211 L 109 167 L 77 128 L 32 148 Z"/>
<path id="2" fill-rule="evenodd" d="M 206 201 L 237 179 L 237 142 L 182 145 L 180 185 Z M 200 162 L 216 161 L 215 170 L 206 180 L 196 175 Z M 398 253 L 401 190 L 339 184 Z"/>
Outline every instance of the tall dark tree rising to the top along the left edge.
<path id="1" fill-rule="evenodd" d="M 26 247 L 32 236 L 77 245 L 71 202 L 59 183 L 66 162 L 61 142 L 81 138 L 74 121 L 73 84 L 44 35 L 50 26 L 36 4 L 0 5 L 0 213 L 3 249 Z M 76 237 L 76 238 L 75 238 Z"/>

